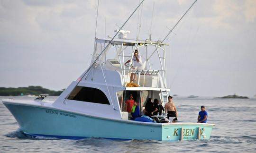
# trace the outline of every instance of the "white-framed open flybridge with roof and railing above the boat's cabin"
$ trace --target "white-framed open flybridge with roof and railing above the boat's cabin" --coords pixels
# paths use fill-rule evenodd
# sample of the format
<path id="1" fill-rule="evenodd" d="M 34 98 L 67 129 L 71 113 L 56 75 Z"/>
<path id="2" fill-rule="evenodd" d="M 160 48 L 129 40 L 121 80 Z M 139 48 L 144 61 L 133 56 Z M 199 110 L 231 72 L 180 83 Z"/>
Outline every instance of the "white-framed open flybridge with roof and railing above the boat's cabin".
<path id="1" fill-rule="evenodd" d="M 122 86 L 127 86 L 131 82 L 130 75 L 136 74 L 138 86 L 166 88 L 166 45 L 161 41 L 150 40 L 95 39 L 91 65 L 119 71 Z M 142 59 L 142 66 L 136 69 L 132 67 L 135 51 Z"/>

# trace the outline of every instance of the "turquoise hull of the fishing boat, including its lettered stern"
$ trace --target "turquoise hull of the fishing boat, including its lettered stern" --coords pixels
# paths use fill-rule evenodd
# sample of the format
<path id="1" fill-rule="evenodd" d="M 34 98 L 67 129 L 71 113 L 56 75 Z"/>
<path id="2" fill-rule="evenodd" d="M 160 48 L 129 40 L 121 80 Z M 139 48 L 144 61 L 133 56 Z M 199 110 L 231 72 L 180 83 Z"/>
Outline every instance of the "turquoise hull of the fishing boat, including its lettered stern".
<path id="1" fill-rule="evenodd" d="M 105 119 L 43 106 L 3 103 L 17 120 L 20 130 L 30 136 L 50 136 L 64 139 L 103 137 L 177 141 L 209 139 L 214 126 L 203 123 L 162 124 Z"/>

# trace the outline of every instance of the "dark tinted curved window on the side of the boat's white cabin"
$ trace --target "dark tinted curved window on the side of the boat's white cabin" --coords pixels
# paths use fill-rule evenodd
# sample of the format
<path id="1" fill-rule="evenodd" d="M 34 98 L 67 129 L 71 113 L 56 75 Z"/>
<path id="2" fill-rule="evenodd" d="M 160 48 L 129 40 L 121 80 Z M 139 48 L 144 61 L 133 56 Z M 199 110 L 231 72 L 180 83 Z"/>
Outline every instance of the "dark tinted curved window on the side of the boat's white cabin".
<path id="1" fill-rule="evenodd" d="M 76 86 L 67 99 L 110 105 L 107 96 L 101 90 L 85 86 Z"/>

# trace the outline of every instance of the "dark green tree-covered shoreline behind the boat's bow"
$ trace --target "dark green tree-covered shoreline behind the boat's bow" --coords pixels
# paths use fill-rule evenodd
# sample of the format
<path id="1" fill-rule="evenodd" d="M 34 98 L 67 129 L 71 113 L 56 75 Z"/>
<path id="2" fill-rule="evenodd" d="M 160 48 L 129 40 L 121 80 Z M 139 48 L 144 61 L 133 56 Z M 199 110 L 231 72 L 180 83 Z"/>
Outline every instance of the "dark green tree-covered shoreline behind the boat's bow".
<path id="1" fill-rule="evenodd" d="M 62 91 L 54 91 L 45 89 L 42 86 L 28 86 L 28 87 L 18 87 L 18 88 L 5 88 L 0 87 L 0 96 L 18 96 L 23 93 L 23 95 L 39 95 L 39 94 L 49 94 L 50 96 L 58 96 Z"/>

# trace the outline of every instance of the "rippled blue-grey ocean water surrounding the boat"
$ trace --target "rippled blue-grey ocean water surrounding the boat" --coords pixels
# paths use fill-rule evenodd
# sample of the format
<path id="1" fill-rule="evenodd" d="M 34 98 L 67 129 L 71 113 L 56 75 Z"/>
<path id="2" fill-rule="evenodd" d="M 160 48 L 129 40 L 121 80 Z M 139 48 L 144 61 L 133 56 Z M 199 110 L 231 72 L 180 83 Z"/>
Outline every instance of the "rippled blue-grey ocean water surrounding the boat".
<path id="1" fill-rule="evenodd" d="M 34 97 L 0 97 L 2 99 Z M 57 97 L 49 97 L 55 100 Z M 112 140 L 89 137 L 82 140 L 25 136 L 9 110 L 0 102 L 0 152 L 126 152 L 175 153 L 219 152 L 256 153 L 256 99 L 214 99 L 212 97 L 174 97 L 178 119 L 196 122 L 200 106 L 205 105 L 208 123 L 215 124 L 210 140 L 176 142 L 155 140 Z"/>

